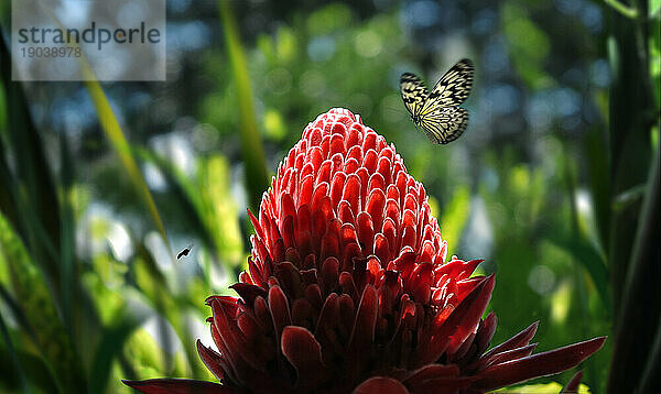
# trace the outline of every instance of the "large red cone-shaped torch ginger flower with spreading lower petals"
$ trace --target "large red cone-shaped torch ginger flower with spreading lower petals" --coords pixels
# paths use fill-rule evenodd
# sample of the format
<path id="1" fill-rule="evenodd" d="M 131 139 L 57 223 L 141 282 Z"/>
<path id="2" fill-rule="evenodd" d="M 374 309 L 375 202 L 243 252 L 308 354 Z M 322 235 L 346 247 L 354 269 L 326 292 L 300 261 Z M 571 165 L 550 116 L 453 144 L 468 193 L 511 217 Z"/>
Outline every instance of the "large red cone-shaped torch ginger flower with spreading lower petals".
<path id="1" fill-rule="evenodd" d="M 221 384 L 126 382 L 143 393 L 484 393 L 575 366 L 595 338 L 532 354 L 532 324 L 491 348 L 481 316 L 494 275 L 446 262 L 424 187 L 360 117 L 310 123 L 250 214 L 249 270 L 212 296 L 218 351 L 197 342 Z"/>

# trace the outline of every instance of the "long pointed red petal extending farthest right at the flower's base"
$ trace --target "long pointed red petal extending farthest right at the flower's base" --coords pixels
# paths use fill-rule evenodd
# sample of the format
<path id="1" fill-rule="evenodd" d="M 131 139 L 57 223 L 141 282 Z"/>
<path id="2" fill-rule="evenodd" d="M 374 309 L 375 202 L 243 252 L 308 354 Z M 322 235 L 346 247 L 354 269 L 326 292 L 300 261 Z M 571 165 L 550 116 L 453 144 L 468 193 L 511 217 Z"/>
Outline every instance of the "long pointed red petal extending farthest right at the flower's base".
<path id="1" fill-rule="evenodd" d="M 489 391 L 568 370 L 599 350 L 605 341 L 606 337 L 598 337 L 564 348 L 492 365 L 479 373 L 479 380 L 473 384 L 473 387 Z"/>

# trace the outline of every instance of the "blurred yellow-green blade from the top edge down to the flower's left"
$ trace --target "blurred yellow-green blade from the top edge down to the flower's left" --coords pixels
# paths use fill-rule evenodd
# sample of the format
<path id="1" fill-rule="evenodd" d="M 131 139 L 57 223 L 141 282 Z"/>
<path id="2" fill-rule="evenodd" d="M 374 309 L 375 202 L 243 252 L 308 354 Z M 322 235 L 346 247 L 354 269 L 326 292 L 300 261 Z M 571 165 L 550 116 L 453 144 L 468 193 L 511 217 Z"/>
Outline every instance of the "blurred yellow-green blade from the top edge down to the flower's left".
<path id="1" fill-rule="evenodd" d="M 237 88 L 239 136 L 241 141 L 241 155 L 246 166 L 246 184 L 249 204 L 251 209 L 257 210 L 261 201 L 262 193 L 269 186 L 264 149 L 259 135 L 259 130 L 257 129 L 257 116 L 254 113 L 254 103 L 252 101 L 248 66 L 239 39 L 237 22 L 230 8 L 230 2 L 227 0 L 218 0 L 218 9 L 220 10 L 220 21 L 223 22 L 225 46 Z"/>

